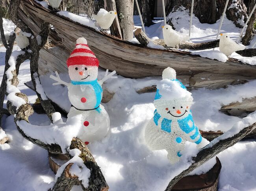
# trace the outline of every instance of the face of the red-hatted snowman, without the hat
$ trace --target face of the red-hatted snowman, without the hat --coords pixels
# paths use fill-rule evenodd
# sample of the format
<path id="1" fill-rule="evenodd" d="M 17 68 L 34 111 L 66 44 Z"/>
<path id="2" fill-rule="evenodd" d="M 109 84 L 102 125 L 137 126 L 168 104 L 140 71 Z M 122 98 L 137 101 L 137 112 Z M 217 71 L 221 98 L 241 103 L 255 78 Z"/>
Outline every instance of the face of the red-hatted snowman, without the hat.
<path id="1" fill-rule="evenodd" d="M 98 76 L 98 67 L 89 65 L 70 65 L 69 77 L 72 81 L 88 82 L 96 80 Z"/>

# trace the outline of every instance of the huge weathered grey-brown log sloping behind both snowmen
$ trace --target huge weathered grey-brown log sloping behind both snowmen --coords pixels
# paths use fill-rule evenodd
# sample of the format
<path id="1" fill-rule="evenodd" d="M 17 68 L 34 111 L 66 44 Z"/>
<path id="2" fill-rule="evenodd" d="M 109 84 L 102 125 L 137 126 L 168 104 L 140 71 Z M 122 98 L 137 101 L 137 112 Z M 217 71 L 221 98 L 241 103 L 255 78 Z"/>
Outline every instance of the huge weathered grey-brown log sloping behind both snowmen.
<path id="1" fill-rule="evenodd" d="M 35 20 L 41 18 L 52 24 L 55 31 L 63 39 L 61 46 L 69 52 L 73 50 L 77 38 L 85 37 L 91 50 L 99 59 L 100 66 L 111 71 L 116 70 L 122 76 L 131 78 L 160 76 L 166 67 L 173 67 L 178 75 L 192 76 L 204 72 L 213 75 L 221 74 L 223 80 L 226 79 L 226 75 L 242 75 L 250 78 L 256 76 L 255 66 L 242 64 L 236 59 L 229 59 L 223 63 L 191 55 L 187 52 L 143 47 L 140 44 L 120 40 L 115 36 L 95 31 L 95 29 L 79 24 L 69 18 L 56 15 L 56 13 L 41 7 L 36 2 L 22 0 L 21 4 L 22 9 L 28 15 L 33 15 Z M 38 23 L 35 20 L 33 25 L 34 28 L 37 28 Z M 51 38 L 51 36 L 52 34 L 49 37 Z M 56 37 L 55 33 L 54 36 Z M 236 81 L 238 80 L 239 78 L 236 79 Z M 217 85 L 220 87 L 221 84 Z"/>

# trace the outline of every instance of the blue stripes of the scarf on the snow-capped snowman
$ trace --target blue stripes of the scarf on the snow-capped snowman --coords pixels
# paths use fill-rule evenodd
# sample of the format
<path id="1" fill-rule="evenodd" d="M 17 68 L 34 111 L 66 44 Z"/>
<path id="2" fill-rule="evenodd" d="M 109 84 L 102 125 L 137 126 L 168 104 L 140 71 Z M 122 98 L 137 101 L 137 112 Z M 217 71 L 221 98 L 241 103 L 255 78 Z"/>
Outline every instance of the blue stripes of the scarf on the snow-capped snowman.
<path id="1" fill-rule="evenodd" d="M 190 111 L 191 113 L 191 111 Z M 180 129 L 182 129 L 182 131 L 184 131 L 185 133 L 190 133 L 191 131 L 193 131 L 194 129 L 196 129 L 195 134 L 190 136 L 190 138 L 192 140 L 194 140 L 195 138 L 197 138 L 198 135 L 200 135 L 199 129 L 197 126 L 195 126 L 194 120 L 192 115 L 189 113 L 189 115 L 183 119 L 178 119 L 178 125 L 180 127 Z M 157 110 L 154 111 L 154 123 L 156 124 L 156 126 L 158 126 L 158 120 L 161 118 L 161 115 L 157 112 Z M 193 126 L 189 126 L 188 122 L 191 121 L 193 123 Z M 167 119 L 167 118 L 163 118 L 163 120 L 161 121 L 161 129 L 163 131 L 166 131 L 167 133 L 171 133 L 171 124 L 172 124 L 172 120 L 171 119 Z M 202 141 L 202 136 L 200 135 L 200 138 L 195 142 L 196 144 L 199 144 Z"/>

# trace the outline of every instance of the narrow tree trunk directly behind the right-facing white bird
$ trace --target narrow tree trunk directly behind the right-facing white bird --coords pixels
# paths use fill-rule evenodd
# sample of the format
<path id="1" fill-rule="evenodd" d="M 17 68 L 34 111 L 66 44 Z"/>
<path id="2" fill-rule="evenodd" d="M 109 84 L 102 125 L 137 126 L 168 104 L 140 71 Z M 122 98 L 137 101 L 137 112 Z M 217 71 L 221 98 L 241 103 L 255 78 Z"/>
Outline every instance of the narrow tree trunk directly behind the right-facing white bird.
<path id="1" fill-rule="evenodd" d="M 106 1 L 106 10 L 117 12 L 115 0 L 107 0 Z M 110 33 L 111 33 L 111 35 L 117 36 L 118 38 L 122 39 L 121 28 L 120 28 L 120 24 L 119 24 L 119 20 L 118 20 L 117 16 L 115 17 L 115 19 L 110 27 Z"/>

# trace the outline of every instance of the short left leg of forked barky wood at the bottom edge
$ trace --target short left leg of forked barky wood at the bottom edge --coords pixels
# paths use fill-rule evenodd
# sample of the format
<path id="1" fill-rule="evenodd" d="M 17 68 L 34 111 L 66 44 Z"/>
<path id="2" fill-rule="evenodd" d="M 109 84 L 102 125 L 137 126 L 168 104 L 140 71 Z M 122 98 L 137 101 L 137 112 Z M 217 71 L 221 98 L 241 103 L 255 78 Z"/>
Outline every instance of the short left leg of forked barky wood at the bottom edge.
<path id="1" fill-rule="evenodd" d="M 70 191 L 74 184 L 78 181 L 78 177 L 76 175 L 70 175 L 69 169 L 73 165 L 73 163 L 68 164 L 61 176 L 57 179 L 54 187 L 49 189 L 48 191 Z"/>

